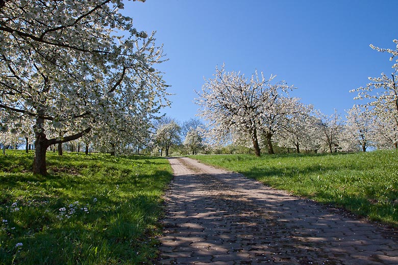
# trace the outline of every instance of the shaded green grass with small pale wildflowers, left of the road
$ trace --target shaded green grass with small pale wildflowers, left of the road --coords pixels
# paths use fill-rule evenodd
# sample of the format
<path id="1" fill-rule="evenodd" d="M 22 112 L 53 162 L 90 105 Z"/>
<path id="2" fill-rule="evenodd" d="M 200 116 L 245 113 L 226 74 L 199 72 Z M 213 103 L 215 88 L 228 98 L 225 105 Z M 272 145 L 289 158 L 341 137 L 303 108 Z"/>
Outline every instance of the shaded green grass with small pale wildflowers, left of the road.
<path id="1" fill-rule="evenodd" d="M 48 152 L 45 177 L 32 160 L 0 155 L 0 264 L 153 263 L 167 160 Z"/>

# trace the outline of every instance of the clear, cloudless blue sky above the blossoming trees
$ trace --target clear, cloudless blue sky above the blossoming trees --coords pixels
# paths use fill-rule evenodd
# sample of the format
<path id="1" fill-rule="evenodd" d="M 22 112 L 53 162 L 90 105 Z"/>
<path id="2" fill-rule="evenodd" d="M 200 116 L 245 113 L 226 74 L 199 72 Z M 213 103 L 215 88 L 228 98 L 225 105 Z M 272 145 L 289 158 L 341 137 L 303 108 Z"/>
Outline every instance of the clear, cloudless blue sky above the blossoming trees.
<path id="1" fill-rule="evenodd" d="M 392 63 L 369 44 L 393 48 L 398 39 L 398 2 L 146 0 L 125 2 L 123 14 L 137 30 L 157 31 L 169 61 L 164 72 L 170 93 L 167 116 L 194 118 L 192 102 L 204 77 L 225 63 L 227 71 L 250 76 L 256 69 L 277 74 L 297 89 L 291 94 L 325 114 L 344 115 L 368 76 L 390 74 Z"/>

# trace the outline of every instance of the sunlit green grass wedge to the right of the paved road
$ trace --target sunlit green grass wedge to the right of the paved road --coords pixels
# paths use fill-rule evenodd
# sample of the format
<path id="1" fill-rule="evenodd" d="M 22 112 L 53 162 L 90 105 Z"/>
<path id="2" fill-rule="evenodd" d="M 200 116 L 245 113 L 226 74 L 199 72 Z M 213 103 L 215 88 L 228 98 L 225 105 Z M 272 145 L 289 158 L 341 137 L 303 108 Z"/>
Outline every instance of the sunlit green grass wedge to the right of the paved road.
<path id="1" fill-rule="evenodd" d="M 196 155 L 297 196 L 398 227 L 398 151 L 350 154 Z"/>

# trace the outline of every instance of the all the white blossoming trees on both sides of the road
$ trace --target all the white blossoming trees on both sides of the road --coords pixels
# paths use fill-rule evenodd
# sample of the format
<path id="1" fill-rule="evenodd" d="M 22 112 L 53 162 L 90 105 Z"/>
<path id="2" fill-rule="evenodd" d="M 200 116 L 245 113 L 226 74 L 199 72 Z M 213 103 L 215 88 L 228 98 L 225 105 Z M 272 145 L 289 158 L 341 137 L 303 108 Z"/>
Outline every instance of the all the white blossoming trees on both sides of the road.
<path id="1" fill-rule="evenodd" d="M 157 121 L 169 105 L 155 69 L 162 46 L 122 8 L 121 0 L 0 0 L 0 142 L 34 142 L 35 173 L 46 174 L 48 147 L 62 151 L 73 141 L 86 151 L 90 144 L 111 153 L 152 146 L 166 155 L 182 138 L 192 153 L 222 144 L 251 146 L 256 155 L 264 147 L 273 153 L 275 144 L 297 152 L 397 148 L 396 63 L 391 75 L 355 90 L 362 104 L 344 122 L 290 97 L 294 87 L 276 76 L 246 78 L 224 67 L 197 93 L 205 126 Z M 371 47 L 396 62 L 394 43 L 395 50 Z"/>

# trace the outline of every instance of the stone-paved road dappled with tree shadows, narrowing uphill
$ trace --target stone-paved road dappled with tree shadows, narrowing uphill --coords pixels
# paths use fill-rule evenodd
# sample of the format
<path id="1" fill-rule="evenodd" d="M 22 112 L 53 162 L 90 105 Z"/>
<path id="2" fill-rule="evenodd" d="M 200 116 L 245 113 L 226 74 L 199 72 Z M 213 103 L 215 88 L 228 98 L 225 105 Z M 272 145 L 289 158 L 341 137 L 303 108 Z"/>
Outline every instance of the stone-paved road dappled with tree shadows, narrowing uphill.
<path id="1" fill-rule="evenodd" d="M 159 264 L 398 264 L 398 235 L 190 158 L 170 158 Z"/>

